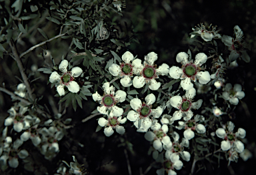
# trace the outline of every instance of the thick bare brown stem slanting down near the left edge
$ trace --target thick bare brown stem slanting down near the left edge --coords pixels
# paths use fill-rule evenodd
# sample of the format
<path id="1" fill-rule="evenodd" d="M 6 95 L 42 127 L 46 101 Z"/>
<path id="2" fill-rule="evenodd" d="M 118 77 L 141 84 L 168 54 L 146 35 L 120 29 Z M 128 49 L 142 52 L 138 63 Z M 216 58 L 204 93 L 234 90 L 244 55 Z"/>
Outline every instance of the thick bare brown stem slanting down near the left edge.
<path id="1" fill-rule="evenodd" d="M 31 98 L 32 100 L 34 100 L 33 98 L 33 95 L 32 95 L 32 90 L 31 90 L 31 87 L 30 87 L 30 84 L 29 84 L 29 81 L 28 81 L 28 78 L 27 78 L 27 75 L 25 74 L 25 69 L 22 65 L 22 62 L 21 62 L 21 57 L 19 57 L 18 53 L 17 53 L 17 49 L 16 49 L 16 46 L 15 44 L 13 43 L 13 41 L 11 41 L 9 43 L 10 47 L 11 47 L 11 50 L 13 51 L 13 55 L 15 57 L 15 61 L 17 62 L 17 65 L 19 67 L 19 72 L 21 72 L 21 77 L 24 81 L 24 84 L 27 88 L 27 92 L 29 93 L 29 98 Z"/>

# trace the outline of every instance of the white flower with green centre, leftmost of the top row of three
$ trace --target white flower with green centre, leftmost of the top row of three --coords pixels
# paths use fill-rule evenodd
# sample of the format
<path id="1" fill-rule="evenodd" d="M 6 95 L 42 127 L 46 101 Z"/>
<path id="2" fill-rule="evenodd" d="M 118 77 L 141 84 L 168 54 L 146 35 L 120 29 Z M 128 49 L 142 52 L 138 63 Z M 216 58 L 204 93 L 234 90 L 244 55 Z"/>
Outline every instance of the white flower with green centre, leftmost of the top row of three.
<path id="1" fill-rule="evenodd" d="M 109 73 L 111 73 L 111 75 L 121 77 L 120 83 L 123 87 L 131 87 L 133 84 L 131 77 L 133 77 L 133 74 L 137 74 L 137 67 L 141 65 L 140 59 L 133 59 L 133 54 L 127 51 L 122 55 L 124 63 L 120 63 L 120 65 L 113 63 L 113 65 L 109 67 Z M 131 61 L 133 62 L 131 63 Z"/>

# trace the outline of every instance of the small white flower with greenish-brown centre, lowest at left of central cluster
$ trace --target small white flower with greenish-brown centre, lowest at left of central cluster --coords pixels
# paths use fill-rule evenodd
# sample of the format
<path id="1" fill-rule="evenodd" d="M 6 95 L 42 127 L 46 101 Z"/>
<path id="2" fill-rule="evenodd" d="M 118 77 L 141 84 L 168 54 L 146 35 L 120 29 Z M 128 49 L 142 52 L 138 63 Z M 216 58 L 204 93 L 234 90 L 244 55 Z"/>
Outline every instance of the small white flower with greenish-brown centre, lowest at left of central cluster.
<path id="1" fill-rule="evenodd" d="M 114 133 L 113 128 L 115 128 L 118 134 L 124 134 L 125 128 L 123 126 L 120 126 L 120 124 L 125 123 L 127 118 L 122 118 L 121 116 L 117 118 L 116 116 L 113 116 L 112 112 L 110 114 L 107 114 L 107 116 L 107 120 L 104 117 L 101 117 L 98 120 L 99 126 L 105 127 L 104 134 L 106 136 L 111 136 Z"/>

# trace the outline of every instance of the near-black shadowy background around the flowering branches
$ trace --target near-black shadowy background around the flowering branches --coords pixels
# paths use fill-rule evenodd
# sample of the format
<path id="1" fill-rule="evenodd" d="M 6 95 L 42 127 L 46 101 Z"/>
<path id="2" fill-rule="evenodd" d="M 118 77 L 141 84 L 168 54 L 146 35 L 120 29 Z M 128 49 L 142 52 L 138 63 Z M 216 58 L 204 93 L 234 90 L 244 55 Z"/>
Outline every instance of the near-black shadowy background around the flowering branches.
<path id="1" fill-rule="evenodd" d="M 13 2 L 11 1 L 11 3 Z M 44 1 L 42 3 L 46 9 L 49 2 Z M 37 4 L 39 2 L 31 1 L 30 3 Z M 247 160 L 247 162 L 243 162 L 239 158 L 238 163 L 231 162 L 229 167 L 227 167 L 226 160 L 221 160 L 220 164 L 201 161 L 199 164 L 204 164 L 206 169 L 199 170 L 197 174 L 251 174 L 251 170 L 256 164 L 256 120 L 254 110 L 256 104 L 256 2 L 253 0 L 131 0 L 125 1 L 125 4 L 126 7 L 121 8 L 123 16 L 110 12 L 107 17 L 109 25 L 107 27 L 115 25 L 117 29 L 123 31 L 124 34 L 122 36 L 126 37 L 123 40 L 129 42 L 129 45 L 119 49 L 117 47 L 101 48 L 104 51 L 116 49 L 120 57 L 125 51 L 129 50 L 133 55 L 137 55 L 139 59 L 143 59 L 147 53 L 155 51 L 159 57 L 157 64 L 168 63 L 171 66 L 176 63 L 175 57 L 177 53 L 181 51 L 187 52 L 191 48 L 189 46 L 193 39 L 190 39 L 189 33 L 191 33 L 192 27 L 195 25 L 204 22 L 212 23 L 217 25 L 217 30 L 220 30 L 219 33 L 229 36 L 233 36 L 233 27 L 235 25 L 239 25 L 242 29 L 245 37 L 244 41 L 250 49 L 247 53 L 251 57 L 251 62 L 237 61 L 239 67 L 227 71 L 226 75 L 229 77 L 229 82 L 233 84 L 239 83 L 244 87 L 245 98 L 243 98 L 241 105 L 237 106 L 233 116 L 223 117 L 227 118 L 227 120 L 232 120 L 236 128 L 245 128 L 247 131 L 247 142 L 244 140 L 245 147 L 253 153 L 253 158 Z M 4 1 L 1 1 L 1 6 L 5 8 Z M 23 23 L 23 26 L 33 26 L 33 29 L 19 39 L 18 50 L 20 52 L 26 51 L 31 46 L 44 41 L 44 37 L 37 31 L 37 28 L 45 31 L 49 38 L 59 34 L 58 25 L 46 19 L 46 17 L 49 17 L 49 13 L 44 8 L 39 10 L 42 12 L 39 18 Z M 0 14 L 5 15 L 3 11 Z M 120 35 L 120 33 L 117 33 L 117 35 Z M 115 38 L 115 33 L 111 33 L 109 39 L 112 38 Z M 39 81 L 33 83 L 33 87 L 37 90 L 35 92 L 37 96 L 44 96 L 41 100 L 41 105 L 45 104 L 49 110 L 52 110 L 50 101 L 55 101 L 55 104 L 57 104 L 59 99 L 56 97 L 51 98 L 52 94 L 56 92 L 55 88 L 47 85 L 49 76 L 36 70 L 39 67 L 43 67 L 44 59 L 51 64 L 51 59 L 47 55 L 49 53 L 51 53 L 57 64 L 61 61 L 63 55 L 67 59 L 71 59 L 71 41 L 72 39 L 70 38 L 55 39 L 47 43 L 47 45 L 38 47 L 29 56 L 23 58 L 23 63 L 27 67 L 26 72 L 31 76 L 29 78 L 32 80 L 41 77 Z M 99 43 L 95 42 L 94 47 L 99 47 L 99 45 Z M 45 53 L 43 53 L 43 50 Z M 195 56 L 195 53 L 196 51 L 192 52 L 192 55 Z M 102 55 L 101 57 L 107 58 L 110 56 Z M 17 77 L 20 77 L 20 75 L 17 65 L 11 57 L 8 57 L 8 60 L 7 57 L 0 60 L 0 73 L 0 83 L 5 83 L 9 89 L 15 90 L 19 84 Z M 42 82 L 45 82 L 45 86 L 41 86 Z M 132 174 L 143 174 L 144 172 L 147 172 L 146 174 L 155 174 L 157 169 L 151 167 L 153 158 L 151 158 L 151 155 L 147 155 L 150 144 L 145 140 L 144 134 L 137 133 L 134 127 L 130 127 L 130 123 L 127 123 L 126 134 L 120 140 L 119 135 L 116 133 L 107 138 L 102 130 L 95 132 L 97 128 L 96 118 L 85 123 L 81 122 L 97 106 L 96 102 L 91 101 L 92 99 L 84 101 L 83 108 L 77 108 L 77 112 L 74 112 L 71 107 L 67 108 L 67 114 L 64 118 L 68 116 L 73 118 L 73 128 L 70 128 L 67 136 L 59 142 L 61 152 L 53 159 L 51 164 L 44 160 L 40 154 L 33 155 L 35 160 L 40 160 L 35 166 L 37 168 L 43 166 L 45 169 L 41 170 L 42 172 L 47 171 L 49 174 L 53 174 L 56 172 L 61 160 L 71 162 L 71 156 L 75 155 L 78 162 L 85 164 L 89 174 L 128 174 L 126 158 L 128 156 Z M 3 122 L 8 116 L 7 110 L 12 105 L 11 98 L 7 94 L 0 92 L 1 126 L 3 126 Z M 83 144 L 83 147 L 78 143 Z M 186 163 L 181 170 L 177 171 L 177 174 L 189 174 L 192 163 L 193 160 Z M 198 169 L 197 167 L 196 170 Z M 23 167 L 21 166 L 13 171 L 13 174 L 27 173 L 26 171 L 23 172 Z"/>

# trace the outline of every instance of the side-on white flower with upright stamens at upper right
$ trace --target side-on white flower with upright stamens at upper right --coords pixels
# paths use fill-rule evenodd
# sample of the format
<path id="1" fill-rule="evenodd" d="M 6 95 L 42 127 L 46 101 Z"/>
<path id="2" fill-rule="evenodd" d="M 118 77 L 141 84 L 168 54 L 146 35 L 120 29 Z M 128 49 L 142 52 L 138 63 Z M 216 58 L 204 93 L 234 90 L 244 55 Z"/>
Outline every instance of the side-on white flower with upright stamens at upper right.
<path id="1" fill-rule="evenodd" d="M 201 36 L 204 41 L 211 41 L 213 38 L 221 38 L 221 35 L 218 34 L 219 31 L 215 31 L 217 26 L 212 27 L 211 25 L 206 26 L 201 23 L 201 26 L 195 26 L 195 29 L 192 28 L 193 32 L 190 33 L 191 38 L 195 37 L 195 35 Z"/>

